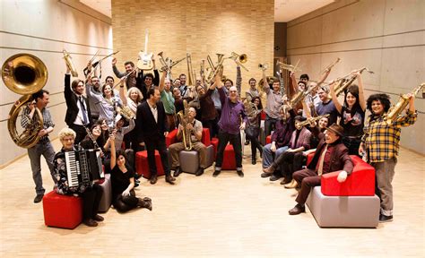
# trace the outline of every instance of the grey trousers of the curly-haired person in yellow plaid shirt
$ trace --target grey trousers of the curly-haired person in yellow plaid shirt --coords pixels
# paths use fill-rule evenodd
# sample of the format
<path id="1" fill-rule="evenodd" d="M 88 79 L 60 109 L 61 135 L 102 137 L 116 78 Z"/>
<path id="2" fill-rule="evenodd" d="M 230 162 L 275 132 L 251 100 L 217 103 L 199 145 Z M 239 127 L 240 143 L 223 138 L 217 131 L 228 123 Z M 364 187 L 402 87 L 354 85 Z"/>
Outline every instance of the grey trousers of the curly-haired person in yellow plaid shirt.
<path id="1" fill-rule="evenodd" d="M 393 216 L 393 185 L 391 183 L 395 175 L 396 164 L 396 158 L 370 164 L 375 168 L 377 192 L 381 201 L 381 213 L 386 216 Z"/>

